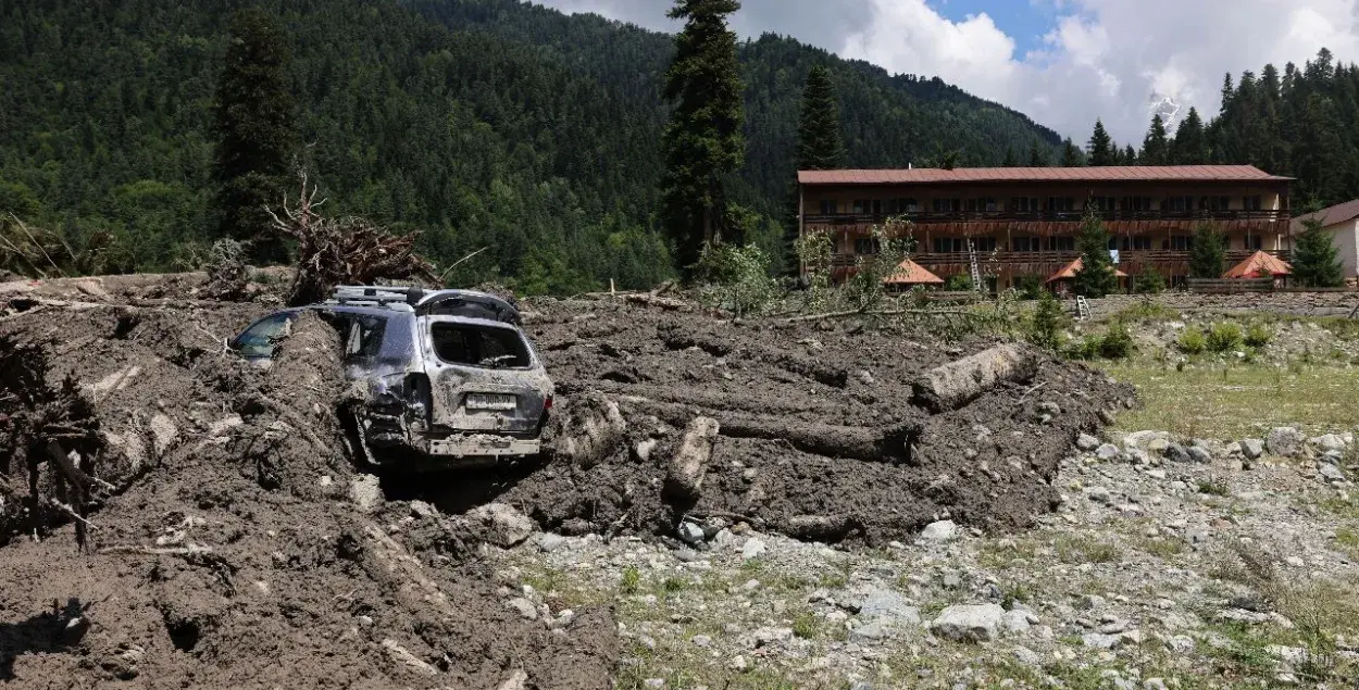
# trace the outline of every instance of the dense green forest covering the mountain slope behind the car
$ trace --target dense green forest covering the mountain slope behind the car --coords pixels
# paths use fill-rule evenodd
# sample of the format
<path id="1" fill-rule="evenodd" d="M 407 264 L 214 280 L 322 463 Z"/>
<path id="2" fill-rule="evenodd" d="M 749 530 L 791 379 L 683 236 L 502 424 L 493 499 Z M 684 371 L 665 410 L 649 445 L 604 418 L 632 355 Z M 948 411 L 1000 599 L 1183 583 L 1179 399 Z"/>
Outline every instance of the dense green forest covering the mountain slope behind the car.
<path id="1" fill-rule="evenodd" d="M 299 163 L 333 213 L 421 231 L 454 280 L 526 292 L 650 285 L 669 35 L 516 0 L 266 0 L 285 29 Z M 0 15 L 0 211 L 105 270 L 175 268 L 211 242 L 213 98 L 228 0 L 11 0 Z M 824 65 L 844 163 L 999 164 L 1057 134 L 938 79 L 892 76 L 795 41 L 738 46 L 746 163 L 728 183 L 777 258 L 802 87 Z"/>

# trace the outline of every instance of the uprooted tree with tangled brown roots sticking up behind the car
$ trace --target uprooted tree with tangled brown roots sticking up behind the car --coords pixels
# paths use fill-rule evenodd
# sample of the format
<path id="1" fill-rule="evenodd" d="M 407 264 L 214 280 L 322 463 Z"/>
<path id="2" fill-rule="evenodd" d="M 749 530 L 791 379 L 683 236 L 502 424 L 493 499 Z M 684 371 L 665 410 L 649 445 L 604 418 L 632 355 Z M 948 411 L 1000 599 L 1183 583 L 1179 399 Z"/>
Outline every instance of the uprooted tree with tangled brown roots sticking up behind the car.
<path id="1" fill-rule="evenodd" d="M 382 280 L 439 283 L 434 265 L 414 253 L 419 232 L 395 235 L 357 216 L 326 217 L 318 212 L 325 198 L 307 172 L 299 172 L 300 192 L 289 205 L 284 194 L 281 216 L 266 209 L 272 227 L 298 243 L 296 274 L 288 304 L 323 300 L 337 285 L 368 285 Z"/>

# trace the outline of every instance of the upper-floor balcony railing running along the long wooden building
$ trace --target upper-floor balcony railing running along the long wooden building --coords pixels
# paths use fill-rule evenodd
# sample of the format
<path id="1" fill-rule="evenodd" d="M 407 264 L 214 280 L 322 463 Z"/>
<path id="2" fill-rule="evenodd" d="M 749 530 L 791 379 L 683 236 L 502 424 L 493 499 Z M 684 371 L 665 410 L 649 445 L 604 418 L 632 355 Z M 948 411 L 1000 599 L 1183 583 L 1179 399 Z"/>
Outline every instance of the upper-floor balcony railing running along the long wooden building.
<path id="1" fill-rule="evenodd" d="M 1101 211 L 1105 221 L 1288 221 L 1287 209 L 1276 211 Z M 915 224 L 930 223 L 1080 223 L 1084 211 L 912 211 L 908 213 L 830 213 L 806 215 L 807 225 L 881 225 L 889 217 Z"/>

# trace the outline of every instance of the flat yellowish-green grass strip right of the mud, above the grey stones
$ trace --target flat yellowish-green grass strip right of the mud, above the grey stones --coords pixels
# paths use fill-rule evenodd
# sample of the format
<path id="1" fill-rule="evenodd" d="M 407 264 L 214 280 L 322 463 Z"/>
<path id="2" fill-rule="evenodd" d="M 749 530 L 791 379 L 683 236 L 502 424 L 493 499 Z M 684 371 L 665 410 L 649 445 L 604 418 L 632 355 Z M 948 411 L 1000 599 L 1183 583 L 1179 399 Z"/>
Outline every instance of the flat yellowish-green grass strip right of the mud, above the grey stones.
<path id="1" fill-rule="evenodd" d="M 1133 360 L 1106 363 L 1104 371 L 1137 387 L 1142 406 L 1118 417 L 1123 431 L 1241 439 L 1282 425 L 1324 432 L 1359 424 L 1354 403 L 1359 369 L 1193 365 L 1176 371 Z"/>

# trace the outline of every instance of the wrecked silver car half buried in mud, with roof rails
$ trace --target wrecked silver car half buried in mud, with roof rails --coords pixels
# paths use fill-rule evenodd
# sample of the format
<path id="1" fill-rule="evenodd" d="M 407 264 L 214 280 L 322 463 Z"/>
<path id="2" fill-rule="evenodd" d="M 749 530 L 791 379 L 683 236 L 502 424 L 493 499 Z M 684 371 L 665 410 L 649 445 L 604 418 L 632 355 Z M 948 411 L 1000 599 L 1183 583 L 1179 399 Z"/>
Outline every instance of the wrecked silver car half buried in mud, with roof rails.
<path id="1" fill-rule="evenodd" d="M 553 386 L 508 302 L 459 289 L 342 287 L 323 303 L 255 321 L 227 345 L 266 367 L 304 311 L 336 327 L 345 375 L 368 388 L 349 421 L 370 462 L 425 469 L 540 452 Z"/>

